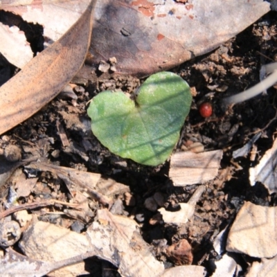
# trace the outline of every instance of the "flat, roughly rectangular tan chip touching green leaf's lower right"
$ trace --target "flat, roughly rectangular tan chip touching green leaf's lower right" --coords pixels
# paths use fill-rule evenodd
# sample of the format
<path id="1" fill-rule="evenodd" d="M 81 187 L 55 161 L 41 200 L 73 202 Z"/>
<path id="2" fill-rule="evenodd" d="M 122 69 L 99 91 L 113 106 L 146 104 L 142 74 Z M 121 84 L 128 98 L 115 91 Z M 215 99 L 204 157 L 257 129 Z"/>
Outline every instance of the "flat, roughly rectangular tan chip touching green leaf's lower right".
<path id="1" fill-rule="evenodd" d="M 172 154 L 168 176 L 175 186 L 203 184 L 217 176 L 222 154 L 222 150 Z"/>

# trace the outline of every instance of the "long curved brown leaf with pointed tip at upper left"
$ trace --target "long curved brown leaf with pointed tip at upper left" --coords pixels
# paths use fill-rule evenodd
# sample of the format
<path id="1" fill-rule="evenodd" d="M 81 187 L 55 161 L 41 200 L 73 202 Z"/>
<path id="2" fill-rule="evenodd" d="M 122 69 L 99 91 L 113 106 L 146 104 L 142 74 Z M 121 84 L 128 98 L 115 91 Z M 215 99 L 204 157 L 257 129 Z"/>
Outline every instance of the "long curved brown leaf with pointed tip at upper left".
<path id="1" fill-rule="evenodd" d="M 80 69 L 89 47 L 95 3 L 91 1 L 66 34 L 0 88 L 0 134 L 35 114 Z"/>

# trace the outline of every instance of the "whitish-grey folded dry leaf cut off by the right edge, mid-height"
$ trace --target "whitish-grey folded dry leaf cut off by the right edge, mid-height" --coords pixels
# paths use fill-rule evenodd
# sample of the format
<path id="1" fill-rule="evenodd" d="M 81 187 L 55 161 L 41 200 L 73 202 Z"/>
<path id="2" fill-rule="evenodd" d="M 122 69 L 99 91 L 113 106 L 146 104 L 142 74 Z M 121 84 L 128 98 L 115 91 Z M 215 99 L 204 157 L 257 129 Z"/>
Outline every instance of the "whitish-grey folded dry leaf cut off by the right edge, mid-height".
<path id="1" fill-rule="evenodd" d="M 265 152 L 257 166 L 249 168 L 249 181 L 251 186 L 254 186 L 257 181 L 264 184 L 269 193 L 277 192 L 277 139 L 275 139 L 272 148 Z"/>

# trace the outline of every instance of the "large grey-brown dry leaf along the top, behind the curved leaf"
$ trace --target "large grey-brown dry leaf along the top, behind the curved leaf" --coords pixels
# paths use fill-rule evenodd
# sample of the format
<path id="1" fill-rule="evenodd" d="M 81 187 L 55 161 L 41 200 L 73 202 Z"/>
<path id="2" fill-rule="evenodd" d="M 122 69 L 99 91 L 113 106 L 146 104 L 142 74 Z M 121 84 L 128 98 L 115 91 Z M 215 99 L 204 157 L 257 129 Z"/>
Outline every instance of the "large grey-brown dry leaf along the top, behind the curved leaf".
<path id="1" fill-rule="evenodd" d="M 85 1 L 44 0 L 27 6 L 24 1 L 25 6 L 16 6 L 22 1 L 10 0 L 2 8 L 42 24 L 46 37 L 55 40 L 66 31 L 63 25 L 69 28 L 76 20 Z M 269 3 L 262 0 L 101 0 L 96 4 L 90 62 L 98 65 L 116 57 L 117 72 L 133 75 L 169 69 L 212 51 L 268 11 Z M 83 67 L 78 76 L 91 78 L 91 68 Z"/>

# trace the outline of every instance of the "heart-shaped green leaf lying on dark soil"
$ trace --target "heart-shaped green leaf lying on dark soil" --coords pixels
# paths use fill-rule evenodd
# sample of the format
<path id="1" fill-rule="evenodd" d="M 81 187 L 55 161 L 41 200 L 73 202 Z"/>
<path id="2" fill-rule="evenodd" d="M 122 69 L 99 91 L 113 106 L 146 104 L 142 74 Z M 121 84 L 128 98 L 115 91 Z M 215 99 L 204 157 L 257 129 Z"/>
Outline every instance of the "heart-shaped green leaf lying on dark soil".
<path id="1" fill-rule="evenodd" d="M 188 84 L 178 75 L 151 75 L 136 101 L 123 92 L 104 91 L 94 97 L 87 113 L 93 134 L 111 152 L 148 166 L 166 161 L 179 139 L 190 110 Z"/>

